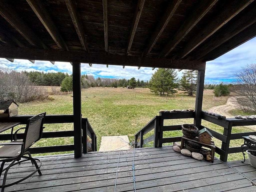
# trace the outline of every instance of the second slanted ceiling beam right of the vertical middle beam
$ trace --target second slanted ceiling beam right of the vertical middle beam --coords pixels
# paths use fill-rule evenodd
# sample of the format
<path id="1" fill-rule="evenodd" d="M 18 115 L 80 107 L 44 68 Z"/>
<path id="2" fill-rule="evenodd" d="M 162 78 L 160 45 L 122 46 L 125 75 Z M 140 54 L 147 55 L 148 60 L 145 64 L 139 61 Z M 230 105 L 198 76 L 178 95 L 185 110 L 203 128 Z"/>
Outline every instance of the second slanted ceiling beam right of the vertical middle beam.
<path id="1" fill-rule="evenodd" d="M 148 43 L 146 49 L 143 52 L 144 56 L 149 54 L 149 52 L 152 50 L 152 48 L 156 44 L 158 38 L 161 36 L 162 32 L 166 28 L 167 24 L 169 23 L 169 21 L 172 18 L 174 12 L 177 10 L 177 8 L 178 8 L 178 6 L 180 5 L 181 2 L 182 2 L 182 0 L 170 1 L 167 10 L 164 13 L 164 16 L 162 17 L 161 21 L 159 22 L 158 26 L 156 27 L 156 29 L 152 33 L 152 36 L 150 37 L 149 43 Z"/>

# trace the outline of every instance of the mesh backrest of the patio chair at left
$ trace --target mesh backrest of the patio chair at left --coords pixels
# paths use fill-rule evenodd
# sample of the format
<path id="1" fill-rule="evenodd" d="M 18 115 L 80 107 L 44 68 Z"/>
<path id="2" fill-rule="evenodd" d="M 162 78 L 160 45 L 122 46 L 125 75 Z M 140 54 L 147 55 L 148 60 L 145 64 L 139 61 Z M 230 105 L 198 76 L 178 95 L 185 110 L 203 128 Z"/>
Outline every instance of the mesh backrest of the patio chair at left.
<path id="1" fill-rule="evenodd" d="M 24 151 L 42 138 L 45 114 L 46 112 L 40 113 L 28 119 L 25 129 L 25 137 L 23 139 L 25 145 Z"/>

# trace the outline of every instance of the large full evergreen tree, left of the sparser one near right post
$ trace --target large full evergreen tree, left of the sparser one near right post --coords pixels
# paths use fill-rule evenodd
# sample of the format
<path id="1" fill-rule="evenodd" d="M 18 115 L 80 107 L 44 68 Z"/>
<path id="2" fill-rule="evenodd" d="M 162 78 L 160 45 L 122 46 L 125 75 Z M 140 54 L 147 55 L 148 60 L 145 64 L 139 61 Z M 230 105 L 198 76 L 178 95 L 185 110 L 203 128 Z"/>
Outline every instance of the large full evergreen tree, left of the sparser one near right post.
<path id="1" fill-rule="evenodd" d="M 175 69 L 159 68 L 150 79 L 150 91 L 159 94 L 159 96 L 164 95 L 164 93 L 167 93 L 167 95 L 174 94 L 176 93 L 174 88 L 177 88 L 177 80 L 177 72 Z"/>

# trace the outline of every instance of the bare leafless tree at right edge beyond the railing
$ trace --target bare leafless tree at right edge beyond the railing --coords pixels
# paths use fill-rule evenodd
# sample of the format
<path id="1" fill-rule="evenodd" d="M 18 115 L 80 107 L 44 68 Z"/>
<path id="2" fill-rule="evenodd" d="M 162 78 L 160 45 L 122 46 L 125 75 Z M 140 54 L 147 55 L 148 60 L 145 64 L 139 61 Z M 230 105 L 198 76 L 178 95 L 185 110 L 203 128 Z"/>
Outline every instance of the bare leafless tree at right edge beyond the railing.
<path id="1" fill-rule="evenodd" d="M 242 110 L 256 111 L 256 64 L 242 68 L 236 74 L 235 92 Z"/>

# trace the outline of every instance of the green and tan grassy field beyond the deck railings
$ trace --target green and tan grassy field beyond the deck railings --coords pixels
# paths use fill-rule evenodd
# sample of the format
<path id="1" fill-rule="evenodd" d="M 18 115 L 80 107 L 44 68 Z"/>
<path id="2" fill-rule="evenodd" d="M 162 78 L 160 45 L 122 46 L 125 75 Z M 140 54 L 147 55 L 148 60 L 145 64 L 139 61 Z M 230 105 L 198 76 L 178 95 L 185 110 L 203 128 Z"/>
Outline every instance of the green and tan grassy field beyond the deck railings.
<path id="1" fill-rule="evenodd" d="M 19 114 L 72 114 L 72 94 L 50 95 L 51 100 L 42 102 L 22 103 Z M 226 103 L 228 97 L 214 98 L 212 90 L 204 91 L 203 110 Z M 161 109 L 194 108 L 195 96 L 177 93 L 168 96 L 156 96 L 147 88 L 88 88 L 82 90 L 82 117 L 88 118 L 96 132 L 98 149 L 102 136 L 128 135 L 134 140 L 134 134 L 145 126 Z M 193 123 L 193 119 L 166 120 L 164 125 Z M 223 128 L 203 121 L 202 124 L 217 132 L 223 133 Z M 72 130 L 72 124 L 47 124 L 44 131 Z M 248 132 L 248 128 L 233 128 L 232 132 Z M 182 136 L 181 131 L 165 132 L 164 137 Z M 221 143 L 215 140 L 216 145 Z M 241 140 L 232 141 L 232 146 L 240 146 Z M 73 138 L 41 139 L 34 146 L 51 146 L 72 144 Z M 58 154 L 58 153 L 56 153 Z M 241 154 L 230 155 L 229 160 L 241 159 Z"/>

